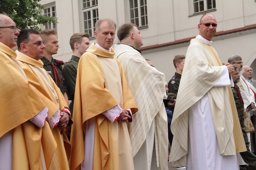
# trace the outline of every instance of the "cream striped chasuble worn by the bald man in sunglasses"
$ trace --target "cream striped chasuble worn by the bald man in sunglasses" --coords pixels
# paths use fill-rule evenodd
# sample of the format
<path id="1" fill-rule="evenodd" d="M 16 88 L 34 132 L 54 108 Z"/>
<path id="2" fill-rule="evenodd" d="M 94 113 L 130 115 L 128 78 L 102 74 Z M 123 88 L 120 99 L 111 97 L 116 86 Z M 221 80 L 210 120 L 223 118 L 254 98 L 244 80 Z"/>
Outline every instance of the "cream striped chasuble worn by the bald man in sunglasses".
<path id="1" fill-rule="evenodd" d="M 206 93 L 221 155 L 246 151 L 230 86 L 214 87 L 223 72 L 222 62 L 211 45 L 196 38 L 190 41 L 177 94 L 171 130 L 170 160 L 175 166 L 187 165 L 188 108 Z M 203 149 L 203 148 L 202 148 Z"/>

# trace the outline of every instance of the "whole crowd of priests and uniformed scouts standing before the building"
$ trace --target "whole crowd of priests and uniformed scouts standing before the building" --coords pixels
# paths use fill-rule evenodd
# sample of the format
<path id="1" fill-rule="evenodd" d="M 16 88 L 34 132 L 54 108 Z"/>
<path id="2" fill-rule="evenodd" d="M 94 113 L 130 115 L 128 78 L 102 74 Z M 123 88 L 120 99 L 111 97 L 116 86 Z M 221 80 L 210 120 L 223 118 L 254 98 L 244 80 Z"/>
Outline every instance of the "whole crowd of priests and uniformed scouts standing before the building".
<path id="1" fill-rule="evenodd" d="M 201 17 L 166 83 L 135 24 L 118 28 L 113 49 L 116 23 L 99 19 L 93 44 L 70 37 L 64 64 L 55 30 L 18 31 L 0 14 L 0 170 L 256 169 L 256 80 L 242 57 L 221 62 L 216 28 Z"/>

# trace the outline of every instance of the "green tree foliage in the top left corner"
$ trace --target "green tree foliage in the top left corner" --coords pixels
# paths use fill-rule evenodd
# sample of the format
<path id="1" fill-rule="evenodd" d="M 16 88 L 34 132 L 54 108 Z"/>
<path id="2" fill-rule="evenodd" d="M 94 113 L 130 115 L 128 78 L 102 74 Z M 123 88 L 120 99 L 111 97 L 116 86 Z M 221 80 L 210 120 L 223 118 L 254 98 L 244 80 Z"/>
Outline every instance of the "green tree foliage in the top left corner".
<path id="1" fill-rule="evenodd" d="M 7 14 L 19 29 L 31 28 L 40 30 L 39 24 L 45 25 L 47 22 L 57 23 L 56 17 L 41 15 L 45 6 L 39 2 L 41 0 L 1 0 L 0 14 Z"/>

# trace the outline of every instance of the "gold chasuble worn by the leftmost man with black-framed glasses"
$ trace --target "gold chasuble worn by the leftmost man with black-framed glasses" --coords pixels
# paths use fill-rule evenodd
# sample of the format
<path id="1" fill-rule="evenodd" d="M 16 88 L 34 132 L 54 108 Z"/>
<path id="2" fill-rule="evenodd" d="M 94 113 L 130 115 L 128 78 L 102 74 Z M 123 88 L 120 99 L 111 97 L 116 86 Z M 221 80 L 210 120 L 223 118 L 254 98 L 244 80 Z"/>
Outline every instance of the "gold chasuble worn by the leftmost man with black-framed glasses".
<path id="1" fill-rule="evenodd" d="M 15 60 L 16 56 L 13 50 L 0 43 L 0 138 L 12 130 L 12 169 L 42 169 L 39 166 L 41 134 L 47 130 L 39 128 L 29 119 L 45 109 L 46 105 L 26 80 Z"/>

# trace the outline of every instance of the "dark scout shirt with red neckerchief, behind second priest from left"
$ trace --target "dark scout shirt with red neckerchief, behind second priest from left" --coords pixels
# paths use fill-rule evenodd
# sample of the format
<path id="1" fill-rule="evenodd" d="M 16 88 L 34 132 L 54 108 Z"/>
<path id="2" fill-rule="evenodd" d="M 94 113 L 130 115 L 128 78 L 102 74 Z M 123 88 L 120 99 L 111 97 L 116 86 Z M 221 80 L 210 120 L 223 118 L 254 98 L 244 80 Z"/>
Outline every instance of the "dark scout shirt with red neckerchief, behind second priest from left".
<path id="1" fill-rule="evenodd" d="M 56 77 L 57 77 L 57 83 L 56 84 L 60 88 L 61 93 L 64 94 L 64 92 L 67 91 L 67 87 L 65 86 L 65 79 L 64 79 L 64 74 L 63 74 L 63 71 L 62 71 L 61 64 L 57 64 L 53 57 L 52 57 L 51 62 L 49 60 L 47 60 L 47 58 L 45 58 L 45 57 L 41 58 L 40 60 L 44 63 L 43 68 L 52 77 L 54 82 L 56 82 L 56 79 L 55 79 L 55 76 L 54 76 L 54 70 L 53 70 L 52 65 L 54 65 L 56 67 L 56 69 L 59 73 L 59 77 L 58 77 L 58 75 L 56 75 Z"/>

